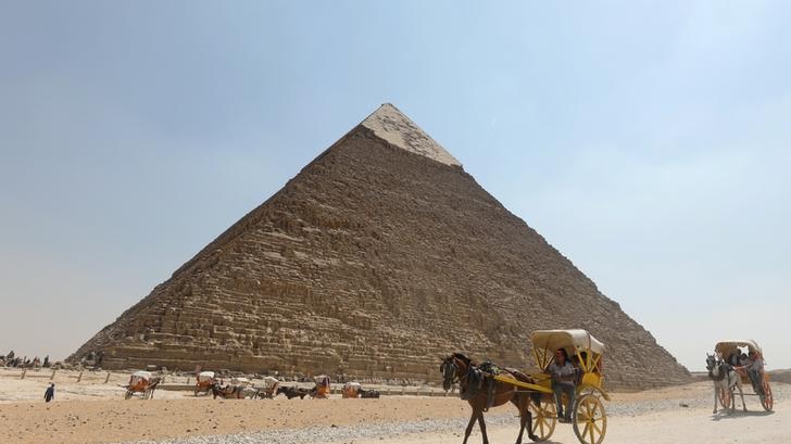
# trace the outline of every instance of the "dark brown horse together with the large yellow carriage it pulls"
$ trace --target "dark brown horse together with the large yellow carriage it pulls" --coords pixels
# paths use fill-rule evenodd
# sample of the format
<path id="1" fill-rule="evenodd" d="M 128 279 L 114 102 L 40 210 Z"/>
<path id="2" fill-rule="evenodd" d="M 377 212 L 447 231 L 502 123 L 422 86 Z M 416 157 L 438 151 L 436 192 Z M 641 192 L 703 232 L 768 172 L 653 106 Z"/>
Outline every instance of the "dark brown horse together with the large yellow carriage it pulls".
<path id="1" fill-rule="evenodd" d="M 519 409 L 522 428 L 517 443 L 522 442 L 524 430 L 533 441 L 549 440 L 558 422 L 549 369 L 555 359 L 555 352 L 564 350 L 575 367 L 575 398 L 564 403 L 573 411 L 570 422 L 574 433 L 583 444 L 600 444 L 607 430 L 602 398 L 610 401 L 610 395 L 603 389 L 604 344 L 581 329 L 539 330 L 532 333 L 531 341 L 532 354 L 540 370 L 537 373 L 526 375 L 491 365 L 476 366 L 462 354 L 449 356 L 442 363 L 440 371 L 443 373 L 444 389 L 449 390 L 453 382 L 459 382 L 462 398 L 466 398 L 473 407 L 465 442 L 476 418 L 482 426 L 482 411 L 506 402 Z M 469 385 L 475 384 L 475 381 L 478 381 L 478 386 L 488 389 L 470 394 Z M 486 432 L 482 433 L 486 442 Z"/>

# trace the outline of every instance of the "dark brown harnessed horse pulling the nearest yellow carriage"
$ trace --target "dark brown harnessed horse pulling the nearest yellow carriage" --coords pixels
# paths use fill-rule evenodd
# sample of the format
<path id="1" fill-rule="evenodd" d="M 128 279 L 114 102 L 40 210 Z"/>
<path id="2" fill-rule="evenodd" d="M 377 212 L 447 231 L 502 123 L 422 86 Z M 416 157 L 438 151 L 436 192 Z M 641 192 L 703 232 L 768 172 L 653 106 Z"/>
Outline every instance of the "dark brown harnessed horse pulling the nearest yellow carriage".
<path id="1" fill-rule="evenodd" d="M 476 366 L 473 361 L 461 353 L 454 353 L 453 355 L 445 357 L 439 368 L 443 378 L 442 388 L 448 391 L 453 383 L 459 382 L 462 399 L 467 399 L 469 406 L 473 408 L 473 416 L 469 417 L 469 423 L 467 424 L 467 429 L 464 431 L 463 444 L 467 444 L 467 439 L 469 437 L 469 433 L 473 431 L 473 424 L 476 419 L 478 420 L 480 434 L 484 436 L 484 444 L 489 444 L 489 437 L 486 434 L 484 411 L 488 410 L 489 407 L 501 406 L 508 401 L 519 410 L 520 427 L 519 435 L 516 437 L 516 444 L 522 444 L 522 434 L 524 433 L 526 426 L 528 428 L 528 436 L 530 436 L 533 441 L 538 440 L 538 436 L 532 433 L 531 428 L 532 414 L 530 414 L 529 410 L 531 399 L 530 394 L 527 392 L 517 392 L 515 385 L 493 379 L 486 380 L 481 384 L 482 388 L 476 388 L 474 386 L 475 381 L 470 381 L 470 370 L 474 370 Z M 500 375 L 522 382 L 535 382 L 527 375 L 516 370 L 502 370 Z M 489 390 L 489 384 L 491 384 L 491 390 Z"/>

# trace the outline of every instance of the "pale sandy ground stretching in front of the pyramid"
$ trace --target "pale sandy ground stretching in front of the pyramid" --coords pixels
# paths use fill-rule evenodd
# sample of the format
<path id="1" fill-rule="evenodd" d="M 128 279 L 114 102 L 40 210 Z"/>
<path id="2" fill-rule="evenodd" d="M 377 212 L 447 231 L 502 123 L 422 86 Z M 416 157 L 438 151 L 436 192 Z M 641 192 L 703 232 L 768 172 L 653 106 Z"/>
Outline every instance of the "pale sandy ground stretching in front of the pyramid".
<path id="1" fill-rule="evenodd" d="M 171 437 L 218 435 L 253 431 L 321 428 L 366 428 L 373 423 L 455 420 L 461 427 L 392 436 L 359 437 L 355 444 L 453 443 L 463 436 L 469 407 L 456 397 L 388 396 L 380 399 L 288 401 L 194 398 L 186 392 L 158 391 L 156 398 L 123 399 L 117 376 L 104 383 L 105 375 L 84 377 L 63 375 L 56 383 L 55 402 L 40 397 L 49 382 L 46 377 L 18 379 L 18 372 L 0 372 L 0 420 L 2 442 L 18 444 L 110 443 L 136 440 L 160 441 Z M 748 389 L 750 390 L 750 389 Z M 750 411 L 732 415 L 712 414 L 712 392 L 707 382 L 638 393 L 615 393 L 606 403 L 608 423 L 605 443 L 762 443 L 791 442 L 791 413 L 788 406 L 791 385 L 776 383 L 775 411 L 766 413 L 758 399 L 750 396 Z M 488 415 L 492 443 L 513 443 L 517 434 L 516 410 L 504 406 Z M 511 419 L 513 418 L 513 420 Z M 500 424 L 498 424 L 500 422 Z M 451 422 L 453 423 L 453 422 Z M 527 436 L 525 436 L 526 442 Z M 306 440 L 327 441 L 321 433 Z M 256 441 L 258 442 L 258 441 Z M 338 442 L 338 441 L 335 441 Z M 346 440 L 350 442 L 350 440 Z M 470 443 L 480 442 L 475 428 Z M 570 426 L 558 424 L 549 442 L 578 442 Z"/>

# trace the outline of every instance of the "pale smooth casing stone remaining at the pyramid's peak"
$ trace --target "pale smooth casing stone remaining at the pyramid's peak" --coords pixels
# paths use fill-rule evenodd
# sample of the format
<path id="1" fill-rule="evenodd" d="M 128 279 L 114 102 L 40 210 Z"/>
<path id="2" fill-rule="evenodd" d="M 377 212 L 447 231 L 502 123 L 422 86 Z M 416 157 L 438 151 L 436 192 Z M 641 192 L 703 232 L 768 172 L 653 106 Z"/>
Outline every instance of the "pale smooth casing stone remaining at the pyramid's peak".
<path id="1" fill-rule="evenodd" d="M 442 145 L 431 139 L 392 103 L 382 103 L 363 120 L 362 126 L 390 144 L 445 165 L 462 166 Z"/>

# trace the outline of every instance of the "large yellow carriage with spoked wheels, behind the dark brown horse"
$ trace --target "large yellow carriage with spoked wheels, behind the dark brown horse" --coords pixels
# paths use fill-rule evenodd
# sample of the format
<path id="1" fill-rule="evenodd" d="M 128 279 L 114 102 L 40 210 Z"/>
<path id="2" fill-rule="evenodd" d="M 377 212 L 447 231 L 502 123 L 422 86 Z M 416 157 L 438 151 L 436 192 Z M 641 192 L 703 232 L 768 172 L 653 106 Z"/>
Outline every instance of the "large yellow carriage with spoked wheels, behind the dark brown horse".
<path id="1" fill-rule="evenodd" d="M 541 370 L 530 375 L 536 382 L 527 383 L 501 376 L 494 376 L 494 379 L 516 385 L 519 391 L 540 393 L 540 402 L 530 406 L 533 418 L 530 427 L 538 435 L 538 441 L 547 441 L 557 423 L 549 367 L 555 351 L 565 350 L 576 368 L 575 399 L 564 403 L 573 409 L 574 433 L 583 444 L 600 444 L 607 431 L 607 416 L 602 399 L 610 401 L 603 388 L 604 344 L 582 329 L 539 330 L 532 333 L 531 341 L 533 358 Z"/>

